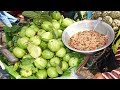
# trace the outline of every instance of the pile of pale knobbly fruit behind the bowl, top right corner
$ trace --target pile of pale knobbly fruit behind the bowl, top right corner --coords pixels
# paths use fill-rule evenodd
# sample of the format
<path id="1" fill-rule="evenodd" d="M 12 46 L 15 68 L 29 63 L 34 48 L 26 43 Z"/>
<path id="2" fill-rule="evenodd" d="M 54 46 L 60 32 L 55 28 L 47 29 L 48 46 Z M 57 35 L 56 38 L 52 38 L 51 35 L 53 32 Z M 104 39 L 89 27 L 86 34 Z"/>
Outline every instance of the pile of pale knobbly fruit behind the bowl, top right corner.
<path id="1" fill-rule="evenodd" d="M 120 27 L 120 11 L 93 11 L 92 19 L 101 17 L 102 20 L 118 30 Z"/>

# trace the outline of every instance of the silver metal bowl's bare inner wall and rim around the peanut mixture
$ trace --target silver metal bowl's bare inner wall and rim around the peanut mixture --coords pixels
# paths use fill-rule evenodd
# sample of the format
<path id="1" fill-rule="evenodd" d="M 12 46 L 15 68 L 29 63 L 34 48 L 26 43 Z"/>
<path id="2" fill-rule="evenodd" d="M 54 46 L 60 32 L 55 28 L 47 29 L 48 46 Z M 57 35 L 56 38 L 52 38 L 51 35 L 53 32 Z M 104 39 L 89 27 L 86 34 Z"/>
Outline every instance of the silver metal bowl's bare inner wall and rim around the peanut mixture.
<path id="1" fill-rule="evenodd" d="M 112 27 L 103 21 L 100 21 L 100 23 L 97 25 L 95 31 L 108 36 L 108 43 L 105 46 L 95 49 L 95 50 L 91 50 L 91 51 L 82 51 L 82 50 L 74 49 L 68 45 L 68 41 L 75 33 L 78 33 L 80 31 L 93 30 L 96 23 L 97 23 L 97 20 L 83 20 L 83 21 L 75 22 L 75 23 L 71 24 L 70 26 L 68 26 L 63 31 L 63 34 L 62 34 L 62 41 L 63 41 L 64 45 L 73 51 L 84 53 L 84 54 L 93 54 L 97 51 L 100 51 L 100 50 L 108 47 L 113 42 L 115 33 L 114 33 L 114 30 L 112 29 Z"/>

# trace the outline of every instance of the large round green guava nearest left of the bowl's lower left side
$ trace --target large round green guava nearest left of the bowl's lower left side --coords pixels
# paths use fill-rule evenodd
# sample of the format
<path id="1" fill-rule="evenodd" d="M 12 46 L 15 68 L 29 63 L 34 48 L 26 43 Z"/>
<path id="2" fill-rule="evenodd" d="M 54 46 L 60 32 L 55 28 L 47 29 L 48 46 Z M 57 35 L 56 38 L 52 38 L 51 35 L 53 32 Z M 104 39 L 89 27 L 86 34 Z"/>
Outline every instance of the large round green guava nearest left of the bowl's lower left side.
<path id="1" fill-rule="evenodd" d="M 51 39 L 48 42 L 48 48 L 53 51 L 53 52 L 57 52 L 60 49 L 60 43 L 58 40 L 56 39 Z"/>

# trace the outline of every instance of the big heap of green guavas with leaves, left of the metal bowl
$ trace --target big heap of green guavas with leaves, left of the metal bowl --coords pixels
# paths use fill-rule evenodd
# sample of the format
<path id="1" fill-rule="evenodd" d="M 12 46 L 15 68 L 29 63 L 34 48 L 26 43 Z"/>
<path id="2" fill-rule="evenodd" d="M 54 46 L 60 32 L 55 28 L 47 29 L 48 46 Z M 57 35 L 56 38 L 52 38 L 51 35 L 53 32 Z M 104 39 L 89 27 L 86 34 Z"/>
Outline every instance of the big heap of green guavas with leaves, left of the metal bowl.
<path id="1" fill-rule="evenodd" d="M 79 66 L 85 55 L 69 50 L 61 40 L 63 30 L 76 21 L 58 11 L 24 11 L 23 15 L 26 24 L 3 27 L 8 49 L 19 60 L 13 64 L 0 56 L 11 78 L 56 78 Z"/>

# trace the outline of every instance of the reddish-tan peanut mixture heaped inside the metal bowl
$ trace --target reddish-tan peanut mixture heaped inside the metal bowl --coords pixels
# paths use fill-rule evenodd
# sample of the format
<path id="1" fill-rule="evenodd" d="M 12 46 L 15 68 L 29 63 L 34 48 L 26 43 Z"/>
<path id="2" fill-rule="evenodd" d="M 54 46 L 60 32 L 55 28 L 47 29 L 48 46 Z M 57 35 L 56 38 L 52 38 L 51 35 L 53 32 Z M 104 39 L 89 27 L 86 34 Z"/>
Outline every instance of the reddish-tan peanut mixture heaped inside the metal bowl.
<path id="1" fill-rule="evenodd" d="M 77 50 L 90 51 L 103 47 L 107 42 L 108 37 L 106 35 L 89 30 L 74 34 L 68 44 L 70 47 Z"/>

